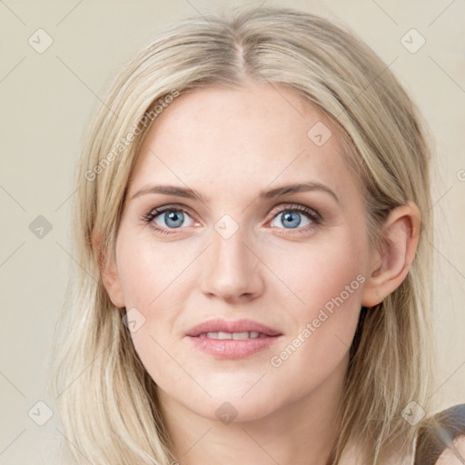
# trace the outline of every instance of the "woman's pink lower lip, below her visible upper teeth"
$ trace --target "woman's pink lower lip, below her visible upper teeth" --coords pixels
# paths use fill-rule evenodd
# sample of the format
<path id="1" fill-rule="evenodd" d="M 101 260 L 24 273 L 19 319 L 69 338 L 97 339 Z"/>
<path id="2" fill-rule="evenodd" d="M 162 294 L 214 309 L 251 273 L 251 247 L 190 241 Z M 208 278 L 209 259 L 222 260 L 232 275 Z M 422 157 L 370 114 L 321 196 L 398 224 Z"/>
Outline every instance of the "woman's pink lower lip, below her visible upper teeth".
<path id="1" fill-rule="evenodd" d="M 243 359 L 256 352 L 264 351 L 274 344 L 281 336 L 266 336 L 253 339 L 209 339 L 187 336 L 193 346 L 199 351 L 213 355 L 217 359 Z"/>

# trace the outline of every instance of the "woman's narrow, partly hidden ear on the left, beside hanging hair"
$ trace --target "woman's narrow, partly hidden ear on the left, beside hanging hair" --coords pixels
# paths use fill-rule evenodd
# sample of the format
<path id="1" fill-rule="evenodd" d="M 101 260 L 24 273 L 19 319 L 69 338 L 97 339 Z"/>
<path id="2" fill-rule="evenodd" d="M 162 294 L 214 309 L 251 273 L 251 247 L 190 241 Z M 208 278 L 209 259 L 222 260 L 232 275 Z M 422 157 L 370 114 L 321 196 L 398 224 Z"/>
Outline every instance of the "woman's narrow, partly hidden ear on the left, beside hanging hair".
<path id="1" fill-rule="evenodd" d="M 92 248 L 94 251 L 95 260 L 98 263 L 100 274 L 104 288 L 108 293 L 108 297 L 115 307 L 124 308 L 124 294 L 121 287 L 121 282 L 118 275 L 118 267 L 114 254 L 108 254 L 104 241 L 98 233 L 94 233 L 92 237 Z"/>

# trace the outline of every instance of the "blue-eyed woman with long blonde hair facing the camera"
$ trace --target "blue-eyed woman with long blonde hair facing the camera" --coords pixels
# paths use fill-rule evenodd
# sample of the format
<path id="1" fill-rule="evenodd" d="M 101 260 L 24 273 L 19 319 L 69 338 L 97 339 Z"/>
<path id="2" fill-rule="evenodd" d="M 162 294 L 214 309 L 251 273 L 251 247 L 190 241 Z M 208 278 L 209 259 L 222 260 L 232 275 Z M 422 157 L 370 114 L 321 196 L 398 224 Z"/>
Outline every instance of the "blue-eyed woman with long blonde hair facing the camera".
<path id="1" fill-rule="evenodd" d="M 411 465 L 431 153 L 388 66 L 259 8 L 167 28 L 104 101 L 75 180 L 64 460 Z"/>

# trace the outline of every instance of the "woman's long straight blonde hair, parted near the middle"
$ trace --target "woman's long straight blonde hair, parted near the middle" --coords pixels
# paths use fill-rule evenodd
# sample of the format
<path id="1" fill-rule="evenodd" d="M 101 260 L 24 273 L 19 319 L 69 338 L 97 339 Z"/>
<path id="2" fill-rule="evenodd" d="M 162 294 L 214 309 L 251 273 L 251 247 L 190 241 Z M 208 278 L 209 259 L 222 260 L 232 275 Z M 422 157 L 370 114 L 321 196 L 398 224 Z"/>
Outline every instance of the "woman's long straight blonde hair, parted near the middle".
<path id="1" fill-rule="evenodd" d="M 57 324 L 50 382 L 72 463 L 175 460 L 154 382 L 122 322 L 125 309 L 115 308 L 105 292 L 99 266 L 114 256 L 137 153 L 168 96 L 209 85 L 237 88 L 247 80 L 290 89 L 336 124 L 361 182 L 371 243 L 381 246 L 393 208 L 411 200 L 420 209 L 410 272 L 383 302 L 361 309 L 331 463 L 352 440 L 371 445 L 373 464 L 394 450 L 409 453 L 414 444 L 419 425 L 411 426 L 401 411 L 411 401 L 429 410 L 433 368 L 427 125 L 389 66 L 347 27 L 268 7 L 226 19 L 188 18 L 154 35 L 95 111 L 75 178 L 72 254 L 80 266 Z"/>

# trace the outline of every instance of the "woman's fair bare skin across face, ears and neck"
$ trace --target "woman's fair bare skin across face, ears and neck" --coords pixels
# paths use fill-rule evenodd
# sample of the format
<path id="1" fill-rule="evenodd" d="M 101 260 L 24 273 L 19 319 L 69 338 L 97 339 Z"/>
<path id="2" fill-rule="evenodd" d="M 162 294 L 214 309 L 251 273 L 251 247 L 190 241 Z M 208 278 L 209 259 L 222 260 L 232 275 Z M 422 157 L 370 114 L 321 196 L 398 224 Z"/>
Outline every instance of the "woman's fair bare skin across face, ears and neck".
<path id="1" fill-rule="evenodd" d="M 317 122 L 332 133 L 322 146 L 307 135 Z M 317 190 L 258 198 L 262 190 L 311 180 L 339 202 Z M 131 200 L 162 183 L 194 189 L 203 202 L 160 193 Z M 153 220 L 171 235 L 141 220 L 173 203 L 188 210 L 181 227 L 170 229 L 163 213 Z M 286 227 L 282 213 L 292 204 L 320 213 L 323 223 L 296 213 L 301 224 Z M 238 227 L 228 239 L 214 229 L 226 213 Z M 385 236 L 393 245 L 381 254 L 371 250 L 361 188 L 336 127 L 286 89 L 208 87 L 163 110 L 134 166 L 115 260 L 103 278 L 114 305 L 135 307 L 145 318 L 131 335 L 157 384 L 178 463 L 326 463 L 361 306 L 381 302 L 404 280 L 418 241 L 411 225 L 419 218 L 413 203 L 391 212 Z M 272 356 L 357 275 L 364 278 L 358 289 L 272 366 Z M 283 336 L 247 358 L 219 360 L 183 337 L 213 317 L 250 318 Z M 237 412 L 228 424 L 215 414 L 226 401 Z"/>

